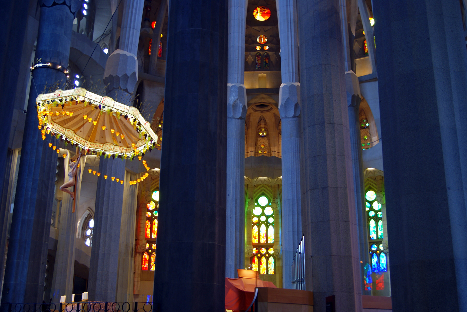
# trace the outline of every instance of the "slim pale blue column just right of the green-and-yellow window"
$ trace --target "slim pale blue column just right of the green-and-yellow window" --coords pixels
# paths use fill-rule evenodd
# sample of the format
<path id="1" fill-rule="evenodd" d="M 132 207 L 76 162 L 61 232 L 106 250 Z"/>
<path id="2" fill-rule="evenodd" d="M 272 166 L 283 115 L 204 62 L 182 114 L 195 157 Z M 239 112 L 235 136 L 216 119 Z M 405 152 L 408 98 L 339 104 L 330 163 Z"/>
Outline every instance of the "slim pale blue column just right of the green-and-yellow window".
<path id="1" fill-rule="evenodd" d="M 278 0 L 282 84 L 282 285 L 292 288 L 292 262 L 302 238 L 300 189 L 300 83 L 298 82 L 297 7 L 295 0 Z"/>

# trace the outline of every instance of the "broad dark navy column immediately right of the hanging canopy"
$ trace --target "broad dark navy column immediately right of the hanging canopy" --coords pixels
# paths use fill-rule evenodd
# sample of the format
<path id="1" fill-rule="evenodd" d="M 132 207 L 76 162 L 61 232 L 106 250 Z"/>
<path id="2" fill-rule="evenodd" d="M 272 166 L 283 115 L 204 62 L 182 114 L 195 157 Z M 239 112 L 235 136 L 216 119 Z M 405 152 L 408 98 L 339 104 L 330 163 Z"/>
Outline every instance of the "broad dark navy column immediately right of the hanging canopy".
<path id="1" fill-rule="evenodd" d="M 164 312 L 224 309 L 226 16 L 227 0 L 170 1 L 154 281 Z"/>

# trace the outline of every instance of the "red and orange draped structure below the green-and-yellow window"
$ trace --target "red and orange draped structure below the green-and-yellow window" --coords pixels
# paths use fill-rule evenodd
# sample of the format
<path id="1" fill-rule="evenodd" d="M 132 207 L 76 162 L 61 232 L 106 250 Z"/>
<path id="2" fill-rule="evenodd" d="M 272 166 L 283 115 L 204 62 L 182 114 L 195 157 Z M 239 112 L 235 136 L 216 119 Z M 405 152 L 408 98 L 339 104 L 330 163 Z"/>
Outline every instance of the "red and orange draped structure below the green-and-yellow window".
<path id="1" fill-rule="evenodd" d="M 245 311 L 255 298 L 256 287 L 276 287 L 259 278 L 258 271 L 237 269 L 239 278 L 226 278 L 226 310 Z"/>

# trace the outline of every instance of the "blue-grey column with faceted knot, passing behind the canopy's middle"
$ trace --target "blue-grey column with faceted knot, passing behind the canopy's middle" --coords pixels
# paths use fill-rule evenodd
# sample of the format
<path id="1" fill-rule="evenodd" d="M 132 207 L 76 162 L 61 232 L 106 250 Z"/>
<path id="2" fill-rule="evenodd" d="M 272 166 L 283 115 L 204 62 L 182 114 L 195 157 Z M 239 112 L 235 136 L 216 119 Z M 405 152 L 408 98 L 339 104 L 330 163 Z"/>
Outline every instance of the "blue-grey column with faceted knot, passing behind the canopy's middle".
<path id="1" fill-rule="evenodd" d="M 132 92 L 138 81 L 138 41 L 144 0 L 124 1 L 120 32 L 120 48 L 109 56 L 104 71 L 106 93 L 114 100 L 131 105 Z M 128 228 L 128 218 L 122 220 L 124 186 L 110 179 L 125 178 L 125 162 L 119 158 L 100 157 L 99 171 L 108 179 L 98 179 L 94 234 L 89 268 L 89 298 L 113 301 L 117 290 L 117 268 L 120 226 Z M 134 211 L 136 213 L 136 211 Z M 124 224 L 120 224 L 123 222 Z M 102 252 L 103 250 L 106 252 Z"/>

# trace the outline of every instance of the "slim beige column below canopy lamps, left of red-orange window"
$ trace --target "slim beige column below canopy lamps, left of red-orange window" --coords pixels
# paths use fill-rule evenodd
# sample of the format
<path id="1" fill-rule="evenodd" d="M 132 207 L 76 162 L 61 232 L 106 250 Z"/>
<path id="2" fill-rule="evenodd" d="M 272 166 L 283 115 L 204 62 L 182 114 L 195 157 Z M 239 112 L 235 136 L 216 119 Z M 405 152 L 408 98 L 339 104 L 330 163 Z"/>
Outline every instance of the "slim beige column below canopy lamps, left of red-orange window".
<path id="1" fill-rule="evenodd" d="M 138 184 L 130 185 L 136 175 L 125 172 L 123 208 L 120 225 L 120 249 L 118 256 L 117 301 L 133 301 L 134 233 L 136 226 L 136 199 Z"/>

